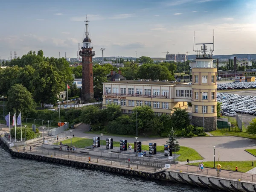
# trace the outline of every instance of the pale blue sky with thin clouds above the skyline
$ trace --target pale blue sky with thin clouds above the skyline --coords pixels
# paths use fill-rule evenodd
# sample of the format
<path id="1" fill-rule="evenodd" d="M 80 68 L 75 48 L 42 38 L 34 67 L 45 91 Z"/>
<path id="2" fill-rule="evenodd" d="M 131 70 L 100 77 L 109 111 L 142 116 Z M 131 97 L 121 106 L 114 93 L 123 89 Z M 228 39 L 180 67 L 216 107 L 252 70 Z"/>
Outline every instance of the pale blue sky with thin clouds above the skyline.
<path id="1" fill-rule="evenodd" d="M 76 58 L 86 15 L 95 57 L 194 54 L 212 43 L 215 55 L 256 54 L 256 0 L 12 0 L 0 6 L 0 56 L 42 49 Z"/>

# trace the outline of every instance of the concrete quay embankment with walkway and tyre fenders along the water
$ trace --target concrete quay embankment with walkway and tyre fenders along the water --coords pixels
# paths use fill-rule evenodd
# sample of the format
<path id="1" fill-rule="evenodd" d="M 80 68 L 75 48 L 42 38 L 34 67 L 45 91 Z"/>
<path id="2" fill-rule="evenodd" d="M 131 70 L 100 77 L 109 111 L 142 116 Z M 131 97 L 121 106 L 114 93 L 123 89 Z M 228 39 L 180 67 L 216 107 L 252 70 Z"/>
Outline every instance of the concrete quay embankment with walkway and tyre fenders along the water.
<path id="1" fill-rule="evenodd" d="M 81 169 L 93 169 L 122 175 L 145 177 L 151 180 L 168 180 L 171 182 L 185 183 L 188 185 L 214 190 L 233 192 L 256 191 L 256 183 L 252 181 L 202 175 L 198 173 L 189 173 L 170 169 L 164 170 L 160 168 L 160 166 L 163 166 L 162 164 L 148 166 L 145 163 L 138 161 L 130 162 L 127 160 L 118 160 L 114 158 L 110 160 L 108 158 L 102 159 L 102 157 L 97 156 L 93 156 L 89 163 L 89 156 L 86 154 L 73 154 L 65 151 L 61 152 L 60 154 L 59 151 L 55 150 L 55 153 L 55 151 L 52 149 L 41 149 L 40 151 L 38 150 L 32 152 L 17 150 L 15 147 L 9 147 L 9 143 L 3 138 L 0 138 L 0 144 L 13 157 L 17 158 L 74 166 Z"/>

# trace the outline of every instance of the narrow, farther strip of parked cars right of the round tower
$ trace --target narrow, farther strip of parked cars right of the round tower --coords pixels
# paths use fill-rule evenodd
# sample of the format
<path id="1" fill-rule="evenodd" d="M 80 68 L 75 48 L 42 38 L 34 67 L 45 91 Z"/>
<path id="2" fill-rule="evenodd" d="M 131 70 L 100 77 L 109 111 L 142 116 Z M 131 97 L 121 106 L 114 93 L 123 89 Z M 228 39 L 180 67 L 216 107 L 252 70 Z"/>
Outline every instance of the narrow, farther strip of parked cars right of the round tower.
<path id="1" fill-rule="evenodd" d="M 233 89 L 254 89 L 256 88 L 256 81 L 252 82 L 230 82 L 217 84 L 217 90 L 233 90 Z"/>

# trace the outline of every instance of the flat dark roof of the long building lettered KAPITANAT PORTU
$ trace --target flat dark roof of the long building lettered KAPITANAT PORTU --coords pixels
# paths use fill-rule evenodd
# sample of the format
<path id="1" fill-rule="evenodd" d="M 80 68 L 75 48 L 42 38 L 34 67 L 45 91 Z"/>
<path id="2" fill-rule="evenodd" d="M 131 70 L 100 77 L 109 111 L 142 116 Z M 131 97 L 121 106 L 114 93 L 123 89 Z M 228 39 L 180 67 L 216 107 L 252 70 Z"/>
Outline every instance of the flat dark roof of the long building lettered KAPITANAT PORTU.
<path id="1" fill-rule="evenodd" d="M 115 79 L 119 79 L 119 78 L 115 78 Z M 120 80 L 121 80 L 121 78 L 120 78 Z M 110 82 L 106 82 L 106 83 L 113 83 L 113 84 L 116 84 L 116 83 L 120 83 L 120 84 L 124 84 L 124 83 L 128 83 L 128 84 L 156 84 L 156 85 L 184 84 L 184 85 L 187 85 L 186 83 L 183 83 L 183 82 L 174 82 L 174 81 L 139 81 L 139 80 L 110 81 Z"/>

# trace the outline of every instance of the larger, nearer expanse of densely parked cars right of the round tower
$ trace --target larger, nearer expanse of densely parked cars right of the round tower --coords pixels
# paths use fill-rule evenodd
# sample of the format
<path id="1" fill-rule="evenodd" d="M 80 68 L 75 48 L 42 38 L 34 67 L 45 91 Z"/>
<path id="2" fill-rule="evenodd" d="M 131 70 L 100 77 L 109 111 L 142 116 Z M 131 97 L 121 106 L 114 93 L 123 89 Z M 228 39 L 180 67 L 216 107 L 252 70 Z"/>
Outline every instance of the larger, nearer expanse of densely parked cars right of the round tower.
<path id="1" fill-rule="evenodd" d="M 236 116 L 236 113 L 256 115 L 256 96 L 217 92 L 217 101 L 221 102 L 222 115 Z"/>

